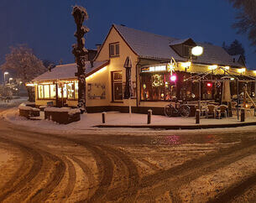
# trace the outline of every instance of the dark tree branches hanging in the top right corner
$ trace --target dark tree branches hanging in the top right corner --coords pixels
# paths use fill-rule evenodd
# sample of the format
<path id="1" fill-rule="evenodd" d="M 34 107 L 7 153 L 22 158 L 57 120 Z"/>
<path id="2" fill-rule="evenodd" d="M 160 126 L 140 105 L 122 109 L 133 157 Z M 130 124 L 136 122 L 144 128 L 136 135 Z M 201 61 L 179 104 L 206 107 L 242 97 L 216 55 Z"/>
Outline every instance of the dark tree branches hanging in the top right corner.
<path id="1" fill-rule="evenodd" d="M 238 9 L 237 22 L 233 24 L 239 34 L 248 34 L 248 39 L 256 46 L 256 1 L 229 0 L 233 8 Z"/>

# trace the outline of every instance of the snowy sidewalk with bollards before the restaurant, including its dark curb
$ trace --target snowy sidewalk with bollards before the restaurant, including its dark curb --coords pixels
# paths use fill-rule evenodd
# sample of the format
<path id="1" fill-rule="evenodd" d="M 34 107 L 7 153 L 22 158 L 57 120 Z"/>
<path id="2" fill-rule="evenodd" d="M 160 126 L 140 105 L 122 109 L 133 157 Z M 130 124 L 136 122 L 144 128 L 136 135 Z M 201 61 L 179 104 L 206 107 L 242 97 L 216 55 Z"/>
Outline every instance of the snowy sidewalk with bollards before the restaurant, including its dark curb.
<path id="1" fill-rule="evenodd" d="M 44 112 L 41 112 L 43 114 Z M 43 116 L 43 115 L 41 115 Z M 147 124 L 147 115 L 133 113 L 107 112 L 106 123 L 102 124 L 102 113 L 86 113 L 81 115 L 81 121 L 60 125 L 55 122 L 40 120 L 32 121 L 18 116 L 18 109 L 13 108 L 3 113 L 3 117 L 14 124 L 30 128 L 51 130 L 85 130 L 100 128 L 163 128 L 163 129 L 200 129 L 200 128 L 232 128 L 256 125 L 256 117 L 247 117 L 246 122 L 238 121 L 237 117 L 222 119 L 201 118 L 201 123 L 196 124 L 195 117 L 165 117 L 152 115 L 151 124 Z M 95 129 L 95 128 L 94 128 Z"/>

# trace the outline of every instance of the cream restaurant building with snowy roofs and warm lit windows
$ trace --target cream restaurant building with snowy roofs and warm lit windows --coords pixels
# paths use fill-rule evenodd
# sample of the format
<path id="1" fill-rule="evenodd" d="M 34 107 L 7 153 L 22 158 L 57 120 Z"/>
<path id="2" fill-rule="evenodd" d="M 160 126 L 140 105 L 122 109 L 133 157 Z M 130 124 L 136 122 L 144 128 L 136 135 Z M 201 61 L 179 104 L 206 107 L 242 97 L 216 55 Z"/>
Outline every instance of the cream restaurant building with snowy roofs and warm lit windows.
<path id="1" fill-rule="evenodd" d="M 191 57 L 191 48 L 196 45 L 202 46 L 204 53 Z M 160 114 L 170 99 L 198 100 L 199 84 L 185 82 L 185 79 L 211 71 L 212 67 L 228 66 L 229 71 L 239 77 L 255 76 L 253 70 L 246 69 L 243 61 L 234 60 L 220 46 L 150 34 L 123 25 L 113 24 L 103 44 L 97 48 L 93 63 L 86 62 L 87 112 L 128 112 L 128 99 L 124 99 L 126 70 L 123 67 L 128 56 L 132 61 L 133 112 L 147 112 L 150 108 Z M 170 71 L 172 58 L 176 64 L 175 69 Z M 188 64 L 190 60 L 191 64 Z M 51 72 L 35 78 L 36 105 L 54 102 L 57 107 L 76 107 L 78 85 L 75 72 L 76 64 L 57 65 Z M 173 75 L 175 78 L 171 77 Z M 219 70 L 207 77 L 217 80 L 223 75 L 225 72 Z M 232 95 L 237 94 L 236 87 L 231 86 Z M 201 99 L 217 100 L 221 88 L 217 83 L 211 86 L 202 84 Z M 248 90 L 255 91 L 253 83 L 248 83 Z M 243 91 L 242 87 L 239 91 Z"/>

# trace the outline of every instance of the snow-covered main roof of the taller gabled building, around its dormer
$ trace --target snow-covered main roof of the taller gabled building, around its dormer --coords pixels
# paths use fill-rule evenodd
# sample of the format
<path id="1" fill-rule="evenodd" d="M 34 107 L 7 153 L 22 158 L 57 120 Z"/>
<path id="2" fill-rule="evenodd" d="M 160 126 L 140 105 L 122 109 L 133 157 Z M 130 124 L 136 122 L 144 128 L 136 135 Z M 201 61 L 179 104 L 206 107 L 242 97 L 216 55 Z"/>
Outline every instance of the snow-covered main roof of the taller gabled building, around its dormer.
<path id="1" fill-rule="evenodd" d="M 187 39 L 175 39 L 151 34 L 117 24 L 114 24 L 113 27 L 118 30 L 118 33 L 122 35 L 133 51 L 142 58 L 169 60 L 171 57 L 174 57 L 178 61 L 187 60 L 170 47 L 170 44 L 182 43 Z M 220 46 L 204 43 L 196 44 L 204 48 L 204 53 L 198 56 L 196 60 L 193 60 L 194 63 L 241 66 L 237 62 L 234 63 L 232 56 L 228 55 Z"/>

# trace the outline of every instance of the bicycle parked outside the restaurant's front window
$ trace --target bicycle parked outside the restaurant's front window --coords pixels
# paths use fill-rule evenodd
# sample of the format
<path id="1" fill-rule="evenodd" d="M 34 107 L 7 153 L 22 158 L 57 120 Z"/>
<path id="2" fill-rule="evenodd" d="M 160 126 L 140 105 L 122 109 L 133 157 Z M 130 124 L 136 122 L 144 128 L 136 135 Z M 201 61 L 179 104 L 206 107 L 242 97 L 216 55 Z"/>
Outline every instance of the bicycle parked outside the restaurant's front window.
<path id="1" fill-rule="evenodd" d="M 189 117 L 191 114 L 191 107 L 182 102 L 175 102 L 173 105 L 172 102 L 165 106 L 165 116 L 172 117 L 174 115 L 180 115 L 181 117 Z"/>

